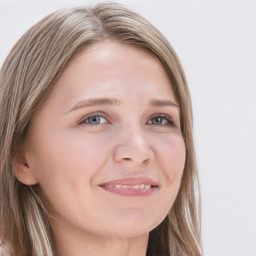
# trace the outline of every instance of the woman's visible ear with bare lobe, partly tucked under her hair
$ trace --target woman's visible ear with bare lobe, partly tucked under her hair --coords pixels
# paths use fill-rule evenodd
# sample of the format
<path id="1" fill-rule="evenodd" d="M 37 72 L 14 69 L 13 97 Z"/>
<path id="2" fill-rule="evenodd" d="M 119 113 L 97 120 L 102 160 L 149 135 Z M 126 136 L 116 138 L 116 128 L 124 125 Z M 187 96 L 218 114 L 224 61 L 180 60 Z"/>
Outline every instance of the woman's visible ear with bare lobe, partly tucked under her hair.
<path id="1" fill-rule="evenodd" d="M 35 185 L 38 183 L 35 172 L 30 167 L 25 154 L 20 152 L 16 154 L 12 161 L 12 169 L 15 177 L 25 185 Z"/>

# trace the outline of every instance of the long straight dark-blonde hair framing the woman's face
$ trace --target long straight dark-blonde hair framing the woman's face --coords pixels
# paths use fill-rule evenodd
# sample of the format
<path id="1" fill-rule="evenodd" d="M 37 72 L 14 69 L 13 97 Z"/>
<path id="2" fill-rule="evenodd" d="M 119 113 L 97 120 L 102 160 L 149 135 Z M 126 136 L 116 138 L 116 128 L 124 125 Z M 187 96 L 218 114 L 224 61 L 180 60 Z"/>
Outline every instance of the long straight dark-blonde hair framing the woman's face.
<path id="1" fill-rule="evenodd" d="M 186 160 L 180 189 L 164 221 L 150 232 L 147 256 L 203 255 L 200 191 L 186 78 L 166 38 L 140 15 L 116 3 L 58 10 L 15 44 L 0 72 L 0 247 L 3 255 L 53 256 L 52 226 L 39 185 L 14 175 L 12 161 L 30 118 L 71 58 L 100 41 L 140 47 L 158 58 L 180 105 Z M 6 249 L 8 248 L 8 250 Z"/>

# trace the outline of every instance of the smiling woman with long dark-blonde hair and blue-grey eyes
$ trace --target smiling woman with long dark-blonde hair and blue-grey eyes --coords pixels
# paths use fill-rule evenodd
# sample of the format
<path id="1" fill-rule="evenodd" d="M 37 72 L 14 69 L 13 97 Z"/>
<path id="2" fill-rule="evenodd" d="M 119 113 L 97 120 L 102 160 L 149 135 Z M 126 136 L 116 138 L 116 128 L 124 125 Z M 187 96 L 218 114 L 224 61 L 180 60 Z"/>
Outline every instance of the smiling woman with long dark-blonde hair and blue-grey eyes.
<path id="1" fill-rule="evenodd" d="M 60 10 L 0 79 L 3 255 L 202 255 L 189 91 L 156 28 Z"/>

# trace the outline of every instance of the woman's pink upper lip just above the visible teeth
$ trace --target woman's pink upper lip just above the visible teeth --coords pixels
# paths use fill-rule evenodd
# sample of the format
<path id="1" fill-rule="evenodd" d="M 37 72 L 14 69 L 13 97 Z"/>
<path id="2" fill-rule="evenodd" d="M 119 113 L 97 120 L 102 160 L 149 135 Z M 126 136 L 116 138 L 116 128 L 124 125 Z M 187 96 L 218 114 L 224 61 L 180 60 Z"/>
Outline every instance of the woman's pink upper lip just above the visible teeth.
<path id="1" fill-rule="evenodd" d="M 110 180 L 107 182 L 104 182 L 100 184 L 100 186 L 103 185 L 140 185 L 140 184 L 148 184 L 151 186 L 156 186 L 158 187 L 158 183 L 154 181 L 152 178 L 149 177 L 127 177 L 127 178 L 122 178 L 122 179 L 115 179 L 115 180 Z"/>

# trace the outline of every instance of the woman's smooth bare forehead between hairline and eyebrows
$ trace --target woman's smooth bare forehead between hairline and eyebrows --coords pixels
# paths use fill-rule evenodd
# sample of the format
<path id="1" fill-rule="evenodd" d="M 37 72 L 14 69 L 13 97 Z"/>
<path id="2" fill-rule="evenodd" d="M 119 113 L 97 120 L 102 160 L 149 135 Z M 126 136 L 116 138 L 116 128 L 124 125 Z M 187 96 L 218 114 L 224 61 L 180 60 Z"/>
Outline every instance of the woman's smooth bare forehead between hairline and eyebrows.
<path id="1" fill-rule="evenodd" d="M 158 93 L 175 99 L 170 79 L 157 57 L 143 48 L 116 41 L 98 42 L 76 54 L 49 96 L 115 97 L 120 92 L 138 97 Z"/>

